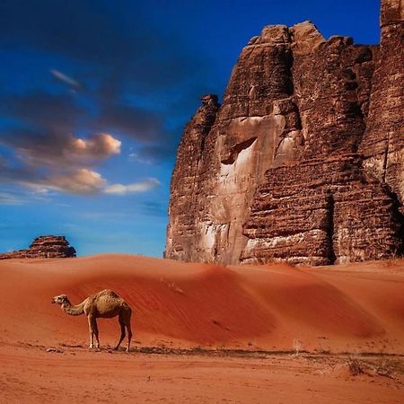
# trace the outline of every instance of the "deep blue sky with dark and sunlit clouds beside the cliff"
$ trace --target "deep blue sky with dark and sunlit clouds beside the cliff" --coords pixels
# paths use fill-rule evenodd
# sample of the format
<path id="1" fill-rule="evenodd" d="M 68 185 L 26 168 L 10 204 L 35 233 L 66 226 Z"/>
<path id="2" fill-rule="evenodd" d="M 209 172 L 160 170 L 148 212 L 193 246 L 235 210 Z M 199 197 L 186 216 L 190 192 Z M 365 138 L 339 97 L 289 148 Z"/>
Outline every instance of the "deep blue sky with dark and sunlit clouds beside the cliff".
<path id="1" fill-rule="evenodd" d="M 379 1 L 0 1 L 0 251 L 162 256 L 182 127 L 262 27 L 378 43 Z"/>

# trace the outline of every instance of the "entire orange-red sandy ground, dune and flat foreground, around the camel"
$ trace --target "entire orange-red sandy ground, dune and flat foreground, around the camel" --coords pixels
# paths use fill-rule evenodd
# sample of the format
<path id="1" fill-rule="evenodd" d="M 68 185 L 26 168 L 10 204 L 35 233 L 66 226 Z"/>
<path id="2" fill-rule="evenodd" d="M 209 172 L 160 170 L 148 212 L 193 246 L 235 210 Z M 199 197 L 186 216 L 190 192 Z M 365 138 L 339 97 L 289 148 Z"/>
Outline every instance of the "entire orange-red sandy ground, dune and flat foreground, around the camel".
<path id="1" fill-rule="evenodd" d="M 0 402 L 404 402 L 404 260 L 215 267 L 129 255 L 0 262 Z M 134 311 L 90 350 L 73 303 Z M 356 372 L 357 371 L 357 372 Z M 355 374 L 358 373 L 358 374 Z"/>

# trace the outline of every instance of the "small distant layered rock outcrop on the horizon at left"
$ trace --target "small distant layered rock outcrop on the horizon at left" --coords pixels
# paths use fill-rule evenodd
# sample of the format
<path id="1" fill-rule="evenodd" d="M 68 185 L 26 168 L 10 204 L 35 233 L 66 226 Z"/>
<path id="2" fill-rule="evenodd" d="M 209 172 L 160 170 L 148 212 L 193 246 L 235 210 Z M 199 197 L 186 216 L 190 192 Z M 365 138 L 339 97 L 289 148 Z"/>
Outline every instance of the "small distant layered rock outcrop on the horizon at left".
<path id="1" fill-rule="evenodd" d="M 69 245 L 65 236 L 40 236 L 30 245 L 28 250 L 18 250 L 0 254 L 0 259 L 47 259 L 75 257 L 75 249 Z"/>

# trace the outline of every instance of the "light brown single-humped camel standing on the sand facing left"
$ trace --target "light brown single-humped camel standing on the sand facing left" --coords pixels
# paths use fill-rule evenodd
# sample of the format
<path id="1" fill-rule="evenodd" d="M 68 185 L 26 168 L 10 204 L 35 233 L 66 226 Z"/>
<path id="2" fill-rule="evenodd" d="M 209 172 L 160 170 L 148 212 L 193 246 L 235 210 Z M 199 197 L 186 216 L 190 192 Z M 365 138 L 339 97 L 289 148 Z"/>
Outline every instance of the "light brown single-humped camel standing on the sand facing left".
<path id="1" fill-rule="evenodd" d="M 130 328 L 130 317 L 132 310 L 128 304 L 119 297 L 118 294 L 111 290 L 103 290 L 98 294 L 92 294 L 87 297 L 83 303 L 73 306 L 67 298 L 66 294 L 59 294 L 52 299 L 52 303 L 61 304 L 63 312 L 71 316 L 80 316 L 85 314 L 88 319 L 88 326 L 90 330 L 90 348 L 94 347 L 93 337 L 95 335 L 96 345 L 100 347 L 100 340 L 98 338 L 97 319 L 118 316 L 120 325 L 120 338 L 118 345 L 114 348 L 117 350 L 123 338 L 125 338 L 125 327 L 127 328 L 127 352 L 130 348 L 130 339 L 132 338 L 132 330 Z"/>

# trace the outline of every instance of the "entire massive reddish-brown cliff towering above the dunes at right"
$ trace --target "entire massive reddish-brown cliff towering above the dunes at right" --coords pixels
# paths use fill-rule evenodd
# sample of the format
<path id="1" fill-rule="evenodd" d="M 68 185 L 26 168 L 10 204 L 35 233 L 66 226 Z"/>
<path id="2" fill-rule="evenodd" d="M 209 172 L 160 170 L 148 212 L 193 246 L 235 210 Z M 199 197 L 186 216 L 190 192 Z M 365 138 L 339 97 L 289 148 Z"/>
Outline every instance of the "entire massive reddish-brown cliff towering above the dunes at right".
<path id="1" fill-rule="evenodd" d="M 325 265 L 403 248 L 403 13 L 382 2 L 380 47 L 312 22 L 265 27 L 223 105 L 185 128 L 165 256 Z"/>

